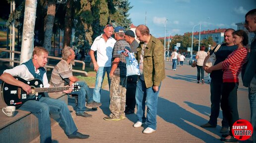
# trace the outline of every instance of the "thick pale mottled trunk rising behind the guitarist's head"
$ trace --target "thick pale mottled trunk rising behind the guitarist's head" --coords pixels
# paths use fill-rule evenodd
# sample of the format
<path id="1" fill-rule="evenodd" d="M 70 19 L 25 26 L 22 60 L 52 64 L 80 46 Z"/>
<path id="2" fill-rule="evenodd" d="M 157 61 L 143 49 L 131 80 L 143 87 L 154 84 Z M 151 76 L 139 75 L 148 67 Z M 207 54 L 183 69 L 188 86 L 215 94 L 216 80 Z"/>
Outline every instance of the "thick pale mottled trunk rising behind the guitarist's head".
<path id="1" fill-rule="evenodd" d="M 27 62 L 32 57 L 32 52 L 34 49 L 36 6 L 37 6 L 37 0 L 25 1 L 20 64 Z"/>

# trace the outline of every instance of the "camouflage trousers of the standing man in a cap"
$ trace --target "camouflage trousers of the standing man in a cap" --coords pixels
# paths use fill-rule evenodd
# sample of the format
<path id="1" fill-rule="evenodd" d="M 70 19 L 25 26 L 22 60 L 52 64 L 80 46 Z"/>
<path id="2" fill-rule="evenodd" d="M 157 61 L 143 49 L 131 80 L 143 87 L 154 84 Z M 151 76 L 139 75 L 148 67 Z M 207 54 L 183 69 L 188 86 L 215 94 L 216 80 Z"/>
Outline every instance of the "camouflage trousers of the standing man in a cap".
<path id="1" fill-rule="evenodd" d="M 112 118 L 125 116 L 126 109 L 126 85 L 127 77 L 113 75 L 110 84 L 110 105 L 109 109 Z"/>

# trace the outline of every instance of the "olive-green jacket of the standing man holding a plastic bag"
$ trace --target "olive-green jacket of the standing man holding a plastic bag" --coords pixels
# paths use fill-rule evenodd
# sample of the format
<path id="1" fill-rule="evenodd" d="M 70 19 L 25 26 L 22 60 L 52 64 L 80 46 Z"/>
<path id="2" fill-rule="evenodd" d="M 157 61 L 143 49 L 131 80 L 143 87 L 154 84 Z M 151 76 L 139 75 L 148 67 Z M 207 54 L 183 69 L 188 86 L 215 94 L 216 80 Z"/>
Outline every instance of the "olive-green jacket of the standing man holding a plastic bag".
<path id="1" fill-rule="evenodd" d="M 142 42 L 137 47 L 136 59 L 139 62 Z M 144 51 L 143 74 L 146 88 L 159 86 L 165 78 L 164 46 L 161 41 L 151 35 Z"/>

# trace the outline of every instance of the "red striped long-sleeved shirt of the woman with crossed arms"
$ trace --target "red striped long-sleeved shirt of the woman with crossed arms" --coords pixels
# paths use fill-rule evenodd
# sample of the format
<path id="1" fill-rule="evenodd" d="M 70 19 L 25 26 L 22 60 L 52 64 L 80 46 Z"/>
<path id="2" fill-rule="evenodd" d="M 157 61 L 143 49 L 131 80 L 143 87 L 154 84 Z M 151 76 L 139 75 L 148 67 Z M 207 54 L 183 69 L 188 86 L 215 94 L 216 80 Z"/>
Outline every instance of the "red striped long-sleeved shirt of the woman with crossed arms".
<path id="1" fill-rule="evenodd" d="M 238 75 L 246 63 L 247 49 L 240 48 L 233 51 L 222 63 L 223 82 L 239 82 Z"/>

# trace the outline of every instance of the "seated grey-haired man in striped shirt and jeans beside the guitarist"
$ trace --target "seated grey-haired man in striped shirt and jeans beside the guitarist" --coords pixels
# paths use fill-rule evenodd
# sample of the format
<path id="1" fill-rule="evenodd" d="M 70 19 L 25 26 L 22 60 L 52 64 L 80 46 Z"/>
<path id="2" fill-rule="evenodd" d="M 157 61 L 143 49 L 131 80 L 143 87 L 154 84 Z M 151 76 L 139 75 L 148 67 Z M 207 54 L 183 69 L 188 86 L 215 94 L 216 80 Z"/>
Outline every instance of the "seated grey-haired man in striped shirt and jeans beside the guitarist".
<path id="1" fill-rule="evenodd" d="M 72 65 L 74 65 L 75 53 L 71 47 L 65 47 L 62 50 L 62 60 L 54 67 L 50 84 L 54 87 L 62 87 L 64 85 L 71 86 L 73 83 L 80 85 L 78 91 L 72 91 L 70 94 L 77 94 L 77 108 L 75 114 L 78 117 L 91 117 L 92 115 L 85 112 L 85 101 L 87 99 L 87 107 L 100 107 L 101 103 L 93 101 L 89 87 L 84 81 L 80 81 L 73 76 Z"/>

